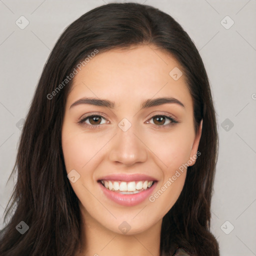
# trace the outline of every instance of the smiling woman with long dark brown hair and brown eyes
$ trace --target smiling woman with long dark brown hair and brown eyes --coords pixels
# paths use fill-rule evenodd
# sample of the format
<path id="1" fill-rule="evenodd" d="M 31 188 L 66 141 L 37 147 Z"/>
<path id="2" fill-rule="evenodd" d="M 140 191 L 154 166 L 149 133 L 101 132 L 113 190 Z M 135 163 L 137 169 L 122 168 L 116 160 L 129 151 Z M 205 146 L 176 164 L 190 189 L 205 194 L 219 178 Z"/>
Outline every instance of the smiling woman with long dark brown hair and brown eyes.
<path id="1" fill-rule="evenodd" d="M 36 87 L 0 255 L 219 255 L 217 144 L 207 74 L 181 26 L 137 3 L 90 10 Z"/>

